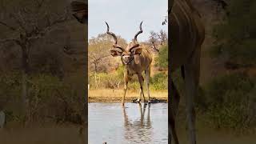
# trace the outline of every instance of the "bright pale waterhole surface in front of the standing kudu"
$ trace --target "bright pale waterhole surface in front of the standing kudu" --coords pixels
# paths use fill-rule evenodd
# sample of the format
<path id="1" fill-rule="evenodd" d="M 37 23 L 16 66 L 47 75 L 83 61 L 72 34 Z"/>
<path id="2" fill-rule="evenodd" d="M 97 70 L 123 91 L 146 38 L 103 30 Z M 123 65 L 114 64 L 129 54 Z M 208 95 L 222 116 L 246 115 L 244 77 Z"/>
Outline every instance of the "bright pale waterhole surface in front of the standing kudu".
<path id="1" fill-rule="evenodd" d="M 89 144 L 168 143 L 168 104 L 89 103 Z"/>

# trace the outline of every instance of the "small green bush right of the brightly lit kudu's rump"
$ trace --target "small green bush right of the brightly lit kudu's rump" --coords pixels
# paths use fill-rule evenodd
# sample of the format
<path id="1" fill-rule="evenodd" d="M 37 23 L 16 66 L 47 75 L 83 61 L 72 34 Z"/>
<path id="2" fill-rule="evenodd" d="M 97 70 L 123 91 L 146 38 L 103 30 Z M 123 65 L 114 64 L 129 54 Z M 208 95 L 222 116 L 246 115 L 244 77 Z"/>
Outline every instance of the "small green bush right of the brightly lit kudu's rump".
<path id="1" fill-rule="evenodd" d="M 156 58 L 156 66 L 168 68 L 168 46 L 164 45 L 159 48 L 158 57 Z"/>

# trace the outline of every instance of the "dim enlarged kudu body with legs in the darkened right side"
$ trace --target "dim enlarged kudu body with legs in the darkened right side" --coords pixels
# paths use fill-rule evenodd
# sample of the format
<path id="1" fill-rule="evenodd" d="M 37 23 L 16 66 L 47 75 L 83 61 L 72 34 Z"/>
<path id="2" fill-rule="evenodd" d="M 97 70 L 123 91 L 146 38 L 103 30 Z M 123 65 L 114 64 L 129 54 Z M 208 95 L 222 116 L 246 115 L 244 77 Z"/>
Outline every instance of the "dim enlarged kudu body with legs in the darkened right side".
<path id="1" fill-rule="evenodd" d="M 198 11 L 191 5 L 190 0 L 174 0 L 169 10 L 168 27 L 170 29 L 170 73 L 182 69 L 185 81 L 186 121 L 188 126 L 189 143 L 196 143 L 194 97 L 197 94 L 200 74 L 200 53 L 205 38 L 205 29 Z M 170 74 L 171 75 L 171 74 Z M 175 115 L 178 110 L 179 94 L 170 78 L 169 92 L 169 128 L 178 144 L 175 130 Z M 170 137 L 169 137 L 170 139 Z"/>

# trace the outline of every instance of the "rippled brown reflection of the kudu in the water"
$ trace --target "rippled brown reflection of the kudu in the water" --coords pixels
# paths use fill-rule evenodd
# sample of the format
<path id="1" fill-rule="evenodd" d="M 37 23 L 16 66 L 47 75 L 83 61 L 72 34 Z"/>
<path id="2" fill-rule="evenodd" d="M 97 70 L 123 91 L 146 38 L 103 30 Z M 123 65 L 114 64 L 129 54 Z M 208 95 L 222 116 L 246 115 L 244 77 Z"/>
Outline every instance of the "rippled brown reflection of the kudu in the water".
<path id="1" fill-rule="evenodd" d="M 144 120 L 145 111 L 147 108 L 147 116 L 146 120 Z M 123 115 L 124 115 L 124 126 L 125 126 L 125 134 L 124 137 L 127 141 L 130 142 L 151 142 L 152 128 L 150 122 L 150 104 L 147 106 L 144 104 L 142 108 L 142 104 L 138 103 L 138 113 L 140 114 L 140 118 L 135 119 L 134 122 L 130 121 L 128 115 L 126 114 L 126 108 L 123 107 Z M 146 129 L 146 130 L 144 130 Z"/>

